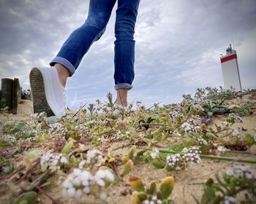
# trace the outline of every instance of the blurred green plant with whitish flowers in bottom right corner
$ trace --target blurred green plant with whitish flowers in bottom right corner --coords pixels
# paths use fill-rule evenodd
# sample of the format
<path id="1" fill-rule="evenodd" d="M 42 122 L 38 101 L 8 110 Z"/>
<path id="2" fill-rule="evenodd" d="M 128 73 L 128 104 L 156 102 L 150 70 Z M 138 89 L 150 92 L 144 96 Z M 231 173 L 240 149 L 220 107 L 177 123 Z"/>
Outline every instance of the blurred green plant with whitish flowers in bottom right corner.
<path id="1" fill-rule="evenodd" d="M 244 203 L 255 202 L 256 177 L 249 166 L 234 165 L 223 173 L 222 178 L 216 174 L 216 179 L 217 182 L 212 178 L 206 181 L 200 202 L 195 199 L 197 203 L 238 203 L 236 195 L 239 192 L 246 192 Z"/>

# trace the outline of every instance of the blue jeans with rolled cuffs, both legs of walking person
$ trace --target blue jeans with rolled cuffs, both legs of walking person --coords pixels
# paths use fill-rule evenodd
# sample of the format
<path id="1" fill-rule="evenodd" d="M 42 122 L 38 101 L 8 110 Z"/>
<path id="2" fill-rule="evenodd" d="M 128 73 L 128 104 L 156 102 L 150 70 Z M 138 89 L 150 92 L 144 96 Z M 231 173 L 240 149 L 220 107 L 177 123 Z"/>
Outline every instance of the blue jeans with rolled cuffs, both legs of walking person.
<path id="1" fill-rule="evenodd" d="M 60 63 L 70 75 L 75 73 L 83 55 L 88 52 L 91 44 L 104 33 L 112 9 L 118 1 L 115 24 L 115 89 L 132 89 L 135 63 L 135 22 L 138 15 L 140 0 L 90 0 L 89 15 L 86 22 L 72 32 L 50 66 Z"/>

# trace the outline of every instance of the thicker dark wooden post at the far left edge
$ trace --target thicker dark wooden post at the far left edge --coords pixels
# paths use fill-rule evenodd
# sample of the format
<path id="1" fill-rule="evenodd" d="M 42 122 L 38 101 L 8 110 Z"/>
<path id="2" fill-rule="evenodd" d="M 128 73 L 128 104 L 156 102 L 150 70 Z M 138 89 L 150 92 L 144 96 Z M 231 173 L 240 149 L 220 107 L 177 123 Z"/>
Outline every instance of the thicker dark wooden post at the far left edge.
<path id="1" fill-rule="evenodd" d="M 12 84 L 13 79 L 1 79 L 1 98 L 4 98 L 9 109 L 12 109 Z"/>

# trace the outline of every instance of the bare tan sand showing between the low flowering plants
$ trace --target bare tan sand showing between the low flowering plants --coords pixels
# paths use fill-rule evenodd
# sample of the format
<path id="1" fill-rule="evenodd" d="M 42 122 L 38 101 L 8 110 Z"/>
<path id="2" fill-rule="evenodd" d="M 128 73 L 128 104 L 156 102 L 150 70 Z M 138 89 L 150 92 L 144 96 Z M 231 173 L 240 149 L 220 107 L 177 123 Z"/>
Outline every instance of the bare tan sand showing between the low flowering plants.
<path id="1" fill-rule="evenodd" d="M 32 113 L 32 104 L 31 101 L 23 100 L 21 104 L 18 106 L 18 114 L 17 115 L 10 115 L 10 119 L 14 120 L 26 120 L 29 119 Z M 0 116 L 0 119 L 3 119 L 3 115 Z M 248 116 L 243 117 L 243 123 L 236 123 L 235 127 L 244 127 L 243 134 L 246 133 L 253 133 L 252 128 L 256 128 L 256 115 L 255 113 Z M 225 117 L 217 116 L 211 122 L 211 126 L 214 127 L 214 124 L 220 125 L 222 121 L 225 121 Z M 121 144 L 126 144 L 127 142 L 118 142 L 113 143 L 112 148 L 116 146 L 120 146 Z M 122 156 L 127 154 L 129 147 L 124 147 L 122 149 L 116 150 L 113 152 L 113 156 L 119 155 Z M 256 160 L 256 146 L 252 146 L 249 150 L 247 150 L 249 154 L 230 154 L 227 153 L 225 156 L 236 157 L 236 158 L 247 158 Z M 128 204 L 131 203 L 131 193 L 132 189 L 128 185 L 128 178 L 129 176 L 138 176 L 140 177 L 145 184 L 150 184 L 151 181 L 157 181 L 159 183 L 162 178 L 166 176 L 175 176 L 176 184 L 173 189 L 173 193 L 171 198 L 174 200 L 175 203 L 181 204 L 189 204 L 195 203 L 192 195 L 197 197 L 200 200 L 200 197 L 203 193 L 203 183 L 206 182 L 208 178 L 214 178 L 216 173 L 222 173 L 226 168 L 231 166 L 233 162 L 221 162 L 217 160 L 203 160 L 202 163 L 199 165 L 191 166 L 187 170 L 181 171 L 173 171 L 167 172 L 166 170 L 158 170 L 154 168 L 152 165 L 147 164 L 136 164 L 135 168 L 129 173 L 128 176 L 124 177 L 124 182 L 120 184 L 110 187 L 109 195 L 106 203 L 122 203 Z M 254 169 L 256 165 L 252 166 Z M 121 170 L 122 167 L 119 168 Z M 55 175 L 52 176 L 48 181 L 50 181 L 50 186 L 47 189 L 49 195 L 54 197 L 54 199 L 58 200 L 59 203 L 79 203 L 74 200 L 64 200 L 61 195 L 61 182 L 59 181 L 59 176 Z M 45 195 L 39 195 L 39 199 L 41 200 L 38 203 L 51 203 L 51 201 L 45 197 Z M 80 203 L 102 203 L 99 200 L 95 200 L 94 197 L 84 197 L 82 202 Z"/>

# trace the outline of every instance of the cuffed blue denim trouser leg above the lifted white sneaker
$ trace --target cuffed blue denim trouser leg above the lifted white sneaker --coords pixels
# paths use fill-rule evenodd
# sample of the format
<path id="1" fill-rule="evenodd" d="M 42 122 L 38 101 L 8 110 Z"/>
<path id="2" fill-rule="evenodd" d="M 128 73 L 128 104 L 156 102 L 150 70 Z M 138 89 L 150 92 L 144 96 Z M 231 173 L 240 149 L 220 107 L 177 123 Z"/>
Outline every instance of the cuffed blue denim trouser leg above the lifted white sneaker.
<path id="1" fill-rule="evenodd" d="M 86 22 L 72 32 L 56 58 L 50 62 L 50 66 L 60 63 L 72 76 L 91 44 L 104 33 L 115 3 L 116 0 L 91 0 Z"/>

